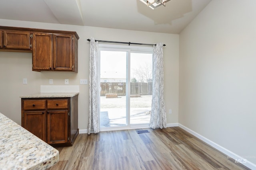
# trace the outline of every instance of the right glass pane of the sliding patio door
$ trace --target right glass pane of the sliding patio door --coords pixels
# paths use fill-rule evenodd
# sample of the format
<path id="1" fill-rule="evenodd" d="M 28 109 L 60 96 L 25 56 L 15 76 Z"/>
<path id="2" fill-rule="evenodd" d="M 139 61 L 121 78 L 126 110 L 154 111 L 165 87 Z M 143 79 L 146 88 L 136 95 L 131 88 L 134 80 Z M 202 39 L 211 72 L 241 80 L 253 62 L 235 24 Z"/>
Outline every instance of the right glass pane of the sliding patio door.
<path id="1" fill-rule="evenodd" d="M 152 54 L 130 55 L 130 124 L 150 121 L 152 102 Z"/>

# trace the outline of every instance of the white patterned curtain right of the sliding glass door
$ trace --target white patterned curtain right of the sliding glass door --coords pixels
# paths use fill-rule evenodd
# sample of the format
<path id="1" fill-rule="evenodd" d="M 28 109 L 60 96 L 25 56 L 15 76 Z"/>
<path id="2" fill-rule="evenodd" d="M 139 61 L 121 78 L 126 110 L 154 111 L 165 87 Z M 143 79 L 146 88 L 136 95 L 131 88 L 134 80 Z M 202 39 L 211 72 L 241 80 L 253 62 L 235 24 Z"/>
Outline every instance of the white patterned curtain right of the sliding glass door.
<path id="1" fill-rule="evenodd" d="M 166 128 L 164 104 L 164 56 L 163 43 L 157 43 L 153 52 L 153 89 L 150 127 Z"/>

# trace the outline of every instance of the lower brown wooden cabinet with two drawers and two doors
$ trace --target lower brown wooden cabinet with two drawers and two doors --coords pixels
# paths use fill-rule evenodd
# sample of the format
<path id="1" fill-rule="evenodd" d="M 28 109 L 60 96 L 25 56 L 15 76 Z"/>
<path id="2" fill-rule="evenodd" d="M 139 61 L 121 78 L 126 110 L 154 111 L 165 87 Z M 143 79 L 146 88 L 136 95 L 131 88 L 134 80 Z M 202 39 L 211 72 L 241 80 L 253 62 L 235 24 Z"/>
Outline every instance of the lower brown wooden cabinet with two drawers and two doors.
<path id="1" fill-rule="evenodd" d="M 22 98 L 22 127 L 52 146 L 72 146 L 78 135 L 78 96 Z"/>

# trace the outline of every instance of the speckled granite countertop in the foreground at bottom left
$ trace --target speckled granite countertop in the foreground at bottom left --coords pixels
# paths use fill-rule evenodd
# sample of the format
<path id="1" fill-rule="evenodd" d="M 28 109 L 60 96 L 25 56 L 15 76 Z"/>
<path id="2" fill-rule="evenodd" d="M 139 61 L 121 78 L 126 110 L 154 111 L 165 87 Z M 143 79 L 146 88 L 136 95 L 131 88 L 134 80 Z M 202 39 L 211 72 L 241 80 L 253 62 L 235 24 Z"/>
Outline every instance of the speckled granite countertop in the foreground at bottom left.
<path id="1" fill-rule="evenodd" d="M 45 170 L 59 152 L 0 113 L 0 170 Z"/>

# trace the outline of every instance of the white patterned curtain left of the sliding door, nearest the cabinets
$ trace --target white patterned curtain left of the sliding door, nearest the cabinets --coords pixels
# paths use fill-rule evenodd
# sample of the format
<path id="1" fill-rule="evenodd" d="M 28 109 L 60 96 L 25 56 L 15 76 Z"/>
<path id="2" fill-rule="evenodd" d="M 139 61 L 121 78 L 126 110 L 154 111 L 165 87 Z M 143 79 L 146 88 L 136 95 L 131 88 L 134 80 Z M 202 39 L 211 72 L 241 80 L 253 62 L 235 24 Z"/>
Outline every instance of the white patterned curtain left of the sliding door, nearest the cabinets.
<path id="1" fill-rule="evenodd" d="M 99 133 L 98 112 L 100 105 L 99 94 L 99 69 L 98 69 L 98 42 L 91 38 L 90 66 L 89 66 L 89 118 L 87 133 Z"/>

